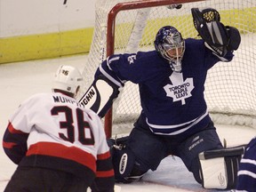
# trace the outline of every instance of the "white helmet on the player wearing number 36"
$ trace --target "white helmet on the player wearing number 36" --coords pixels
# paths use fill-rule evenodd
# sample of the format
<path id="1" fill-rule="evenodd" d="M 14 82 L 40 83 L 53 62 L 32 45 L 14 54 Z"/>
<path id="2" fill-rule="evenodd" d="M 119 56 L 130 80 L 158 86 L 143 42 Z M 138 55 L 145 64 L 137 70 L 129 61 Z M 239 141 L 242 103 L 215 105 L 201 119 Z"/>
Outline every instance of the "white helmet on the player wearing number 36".
<path id="1" fill-rule="evenodd" d="M 72 66 L 60 66 L 52 84 L 52 91 L 60 90 L 76 96 L 77 88 L 81 85 L 83 77 L 77 68 Z"/>

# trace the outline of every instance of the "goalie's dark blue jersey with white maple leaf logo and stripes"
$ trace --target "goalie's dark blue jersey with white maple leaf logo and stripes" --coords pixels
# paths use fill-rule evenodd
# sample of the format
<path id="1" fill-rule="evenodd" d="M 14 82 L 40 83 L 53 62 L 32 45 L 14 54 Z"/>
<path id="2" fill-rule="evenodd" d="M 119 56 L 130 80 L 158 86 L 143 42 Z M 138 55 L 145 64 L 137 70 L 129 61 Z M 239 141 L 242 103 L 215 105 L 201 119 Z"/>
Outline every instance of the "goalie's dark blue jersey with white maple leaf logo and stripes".
<path id="1" fill-rule="evenodd" d="M 172 71 L 156 51 L 116 54 L 98 68 L 118 86 L 126 81 L 139 84 L 140 103 L 150 130 L 156 134 L 177 135 L 210 121 L 204 100 L 207 70 L 220 60 L 230 61 L 233 53 L 219 58 L 204 46 L 203 40 L 186 39 L 182 72 Z"/>

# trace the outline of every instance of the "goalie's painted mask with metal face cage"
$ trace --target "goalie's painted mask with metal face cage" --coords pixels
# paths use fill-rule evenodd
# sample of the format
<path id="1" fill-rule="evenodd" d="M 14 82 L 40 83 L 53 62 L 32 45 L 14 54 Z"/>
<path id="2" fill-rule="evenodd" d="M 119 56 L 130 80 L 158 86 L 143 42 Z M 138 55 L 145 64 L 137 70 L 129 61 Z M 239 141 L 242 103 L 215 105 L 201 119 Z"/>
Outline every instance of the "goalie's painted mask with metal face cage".
<path id="1" fill-rule="evenodd" d="M 168 60 L 173 71 L 181 72 L 181 60 L 185 52 L 185 42 L 180 32 L 172 26 L 160 28 L 154 42 L 156 52 Z"/>

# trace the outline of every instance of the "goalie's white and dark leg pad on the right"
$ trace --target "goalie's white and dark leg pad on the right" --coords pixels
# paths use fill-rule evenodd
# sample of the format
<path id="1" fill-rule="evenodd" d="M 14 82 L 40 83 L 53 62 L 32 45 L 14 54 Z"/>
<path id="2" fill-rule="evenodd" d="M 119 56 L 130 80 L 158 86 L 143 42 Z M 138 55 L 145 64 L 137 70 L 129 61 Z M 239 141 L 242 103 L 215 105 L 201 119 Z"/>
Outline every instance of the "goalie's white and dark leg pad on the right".
<path id="1" fill-rule="evenodd" d="M 236 188 L 238 165 L 244 147 L 221 148 L 199 154 L 200 174 L 204 188 Z"/>

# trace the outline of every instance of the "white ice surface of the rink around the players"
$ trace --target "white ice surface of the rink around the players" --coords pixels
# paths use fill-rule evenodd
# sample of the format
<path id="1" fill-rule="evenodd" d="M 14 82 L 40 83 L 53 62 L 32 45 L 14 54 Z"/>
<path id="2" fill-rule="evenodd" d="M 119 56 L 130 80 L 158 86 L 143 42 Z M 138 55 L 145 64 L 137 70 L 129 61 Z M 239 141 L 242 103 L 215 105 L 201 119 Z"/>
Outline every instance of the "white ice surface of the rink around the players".
<path id="1" fill-rule="evenodd" d="M 32 60 L 0 65 L 0 135 L 3 139 L 8 118 L 18 108 L 21 101 L 37 92 L 51 92 L 52 77 L 61 65 L 76 66 L 83 70 L 86 55 L 78 55 L 52 60 Z M 256 129 L 241 126 L 216 124 L 220 139 L 226 139 L 228 146 L 245 144 L 256 135 Z M 16 169 L 0 149 L 0 191 L 10 180 Z M 206 190 L 196 183 L 192 174 L 177 157 L 169 156 L 163 160 L 156 172 L 148 172 L 144 180 L 132 184 L 117 184 L 122 192 L 152 191 L 217 191 Z"/>

